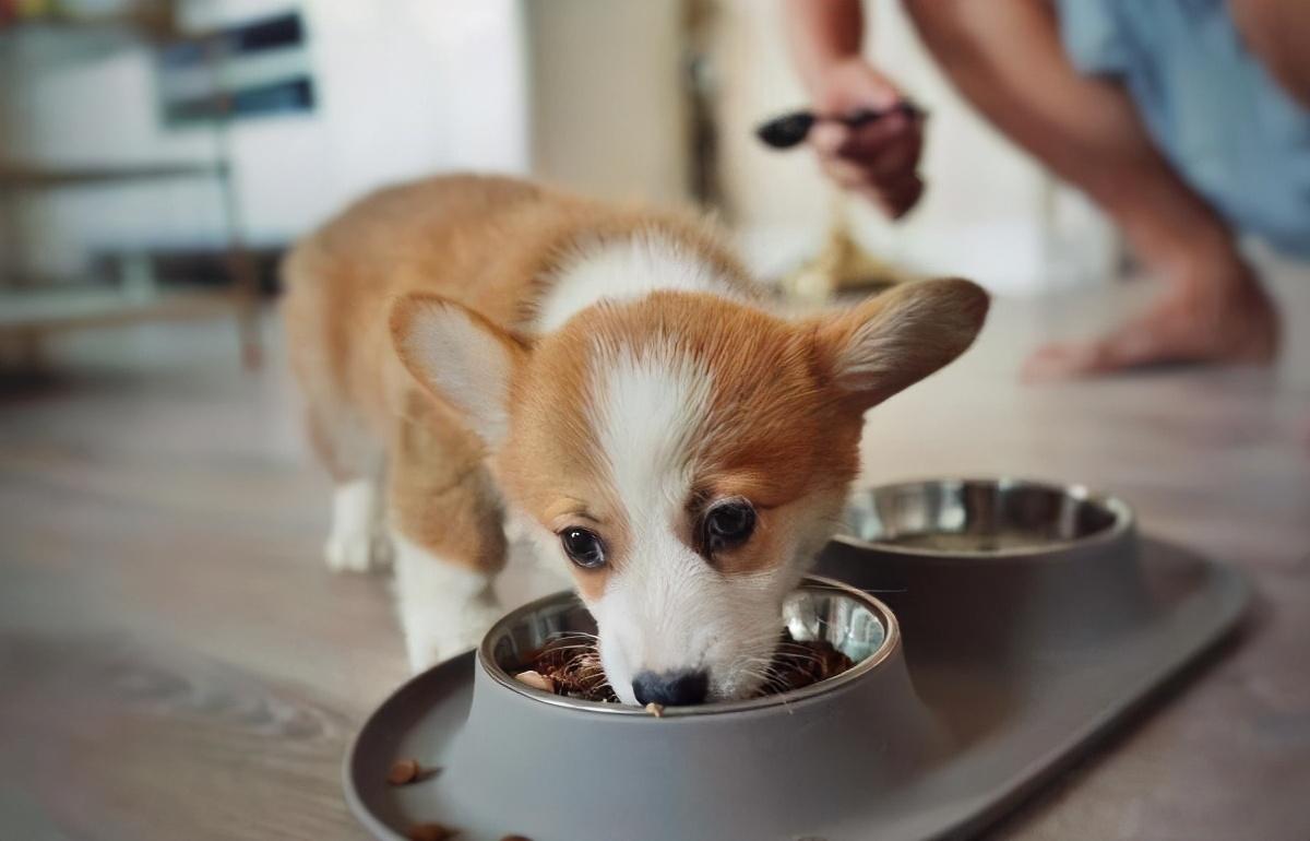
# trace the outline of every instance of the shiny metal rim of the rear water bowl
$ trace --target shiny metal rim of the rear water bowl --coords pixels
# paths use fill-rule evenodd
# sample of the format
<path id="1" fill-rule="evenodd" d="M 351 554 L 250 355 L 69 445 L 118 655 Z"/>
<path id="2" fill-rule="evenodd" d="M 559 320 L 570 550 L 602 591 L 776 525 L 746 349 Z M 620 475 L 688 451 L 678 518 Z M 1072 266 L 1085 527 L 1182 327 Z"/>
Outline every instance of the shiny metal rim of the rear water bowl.
<path id="1" fill-rule="evenodd" d="M 917 555 L 922 558 L 967 558 L 967 559 L 980 559 L 980 558 L 1015 558 L 1015 557 L 1035 557 L 1061 553 L 1069 549 L 1082 549 L 1086 546 L 1099 546 L 1103 544 L 1114 542 L 1123 536 L 1131 533 L 1137 525 L 1137 515 L 1133 507 L 1124 502 L 1123 498 L 1115 496 L 1114 494 L 1107 494 L 1091 489 L 1082 483 L 1058 483 L 1047 482 L 1043 479 L 1028 479 L 1013 476 L 968 476 L 968 477 L 934 477 L 925 479 L 905 479 L 903 482 L 889 482 L 887 485 L 871 485 L 869 487 L 861 489 L 857 494 L 874 494 L 883 490 L 891 490 L 897 487 L 916 487 L 924 485 L 994 485 L 1001 489 L 1039 489 L 1044 491 L 1053 491 L 1079 502 L 1087 502 L 1100 506 L 1114 516 L 1114 523 L 1110 528 L 1096 532 L 1095 534 L 1089 534 L 1086 537 L 1077 537 L 1074 540 L 1057 540 L 1049 544 L 1043 544 L 1040 546 L 1022 546 L 1017 549 L 1005 550 L 992 550 L 992 549 L 918 549 L 914 546 L 901 546 L 897 544 L 879 542 L 862 540 L 854 534 L 848 534 L 845 532 L 838 532 L 833 536 L 833 541 L 846 544 L 855 549 L 872 549 L 878 551 L 886 551 L 889 554 L 904 554 L 904 555 Z"/>

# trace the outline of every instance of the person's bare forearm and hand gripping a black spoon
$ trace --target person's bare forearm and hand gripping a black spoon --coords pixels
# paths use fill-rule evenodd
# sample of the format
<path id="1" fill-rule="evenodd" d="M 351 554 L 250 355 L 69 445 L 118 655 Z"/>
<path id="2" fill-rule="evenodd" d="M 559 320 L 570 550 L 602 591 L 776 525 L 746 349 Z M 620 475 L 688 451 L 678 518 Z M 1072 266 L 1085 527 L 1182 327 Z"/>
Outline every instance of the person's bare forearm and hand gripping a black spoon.
<path id="1" fill-rule="evenodd" d="M 819 114 L 892 109 L 901 93 L 865 60 L 859 0 L 783 0 L 787 41 L 800 80 Z M 824 172 L 893 219 L 918 202 L 921 118 L 893 113 L 859 128 L 821 122 L 810 132 Z"/>

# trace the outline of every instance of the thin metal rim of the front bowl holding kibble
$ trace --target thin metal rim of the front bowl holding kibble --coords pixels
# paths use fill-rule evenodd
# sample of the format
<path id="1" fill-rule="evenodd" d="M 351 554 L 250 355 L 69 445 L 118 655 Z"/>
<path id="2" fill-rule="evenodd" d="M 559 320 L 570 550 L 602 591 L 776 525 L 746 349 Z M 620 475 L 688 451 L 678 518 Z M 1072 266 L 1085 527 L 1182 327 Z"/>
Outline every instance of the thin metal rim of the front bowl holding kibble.
<path id="1" fill-rule="evenodd" d="M 814 700 L 819 696 L 832 693 L 842 686 L 846 686 L 865 675 L 869 675 L 879 665 L 882 665 L 892 652 L 900 648 L 900 626 L 896 624 L 896 616 L 891 609 L 879 601 L 878 599 L 870 596 L 862 589 L 855 589 L 849 584 L 844 584 L 838 580 L 824 578 L 821 575 L 806 575 L 800 579 L 800 584 L 796 589 L 806 588 L 823 588 L 823 589 L 836 589 L 841 593 L 854 599 L 855 601 L 863 604 L 870 612 L 874 613 L 883 624 L 883 642 L 878 646 L 878 650 L 871 655 L 846 669 L 841 675 L 834 675 L 819 682 L 810 684 L 808 686 L 802 686 L 800 689 L 793 689 L 791 692 L 782 692 L 778 694 L 765 696 L 762 698 L 749 698 L 745 701 L 723 701 L 715 703 L 697 703 L 693 706 L 671 706 L 665 707 L 662 719 L 668 718 L 692 718 L 698 715 L 723 715 L 728 713 L 749 713 L 757 710 L 765 710 L 769 707 L 786 707 L 790 703 L 798 701 Z M 580 701 L 578 698 L 566 698 L 563 696 L 552 694 L 542 692 L 540 689 L 533 689 L 527 686 L 523 681 L 516 680 L 512 675 L 500 668 L 491 652 L 491 639 L 495 631 L 504 625 L 512 625 L 520 621 L 525 614 L 555 603 L 559 600 L 576 600 L 578 595 L 572 591 L 561 591 L 557 593 L 550 593 L 549 596 L 542 596 L 528 604 L 515 608 L 510 613 L 506 613 L 500 620 L 491 626 L 491 629 L 482 637 L 482 643 L 478 646 L 477 662 L 478 668 L 489 675 L 496 684 L 516 692 L 520 696 L 532 698 L 533 701 L 548 703 L 552 706 L 563 707 L 567 710 L 578 713 L 601 713 L 607 715 L 634 715 L 641 719 L 654 718 L 645 707 L 630 706 L 626 703 L 607 703 L 604 701 Z"/>

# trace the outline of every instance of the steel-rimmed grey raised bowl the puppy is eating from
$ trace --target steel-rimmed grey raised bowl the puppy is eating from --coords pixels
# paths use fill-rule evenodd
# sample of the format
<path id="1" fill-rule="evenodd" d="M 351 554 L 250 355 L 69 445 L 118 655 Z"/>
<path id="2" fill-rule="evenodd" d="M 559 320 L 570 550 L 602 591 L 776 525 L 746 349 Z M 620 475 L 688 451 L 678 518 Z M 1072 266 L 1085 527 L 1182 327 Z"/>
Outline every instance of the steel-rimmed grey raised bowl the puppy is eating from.
<path id="1" fill-rule="evenodd" d="M 867 820 L 872 791 L 930 765 L 942 735 L 880 601 L 807 578 L 783 620 L 796 638 L 828 639 L 857 664 L 790 693 L 656 718 L 515 680 L 524 655 L 553 634 L 595 626 L 571 593 L 514 610 L 478 650 L 472 707 L 443 761 L 434 812 L 476 837 L 840 837 Z"/>

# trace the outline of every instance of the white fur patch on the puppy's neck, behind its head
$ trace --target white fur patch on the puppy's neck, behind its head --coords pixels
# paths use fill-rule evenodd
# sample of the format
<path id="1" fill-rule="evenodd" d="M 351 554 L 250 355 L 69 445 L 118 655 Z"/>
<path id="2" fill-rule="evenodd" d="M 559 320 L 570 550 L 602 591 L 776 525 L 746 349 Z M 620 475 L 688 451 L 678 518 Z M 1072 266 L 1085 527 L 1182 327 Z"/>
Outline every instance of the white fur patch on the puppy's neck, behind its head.
<path id="1" fill-rule="evenodd" d="M 583 246 L 565 262 L 537 309 L 536 327 L 557 330 L 600 301 L 631 301 L 656 291 L 740 297 L 713 263 L 659 233 Z"/>

